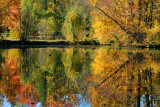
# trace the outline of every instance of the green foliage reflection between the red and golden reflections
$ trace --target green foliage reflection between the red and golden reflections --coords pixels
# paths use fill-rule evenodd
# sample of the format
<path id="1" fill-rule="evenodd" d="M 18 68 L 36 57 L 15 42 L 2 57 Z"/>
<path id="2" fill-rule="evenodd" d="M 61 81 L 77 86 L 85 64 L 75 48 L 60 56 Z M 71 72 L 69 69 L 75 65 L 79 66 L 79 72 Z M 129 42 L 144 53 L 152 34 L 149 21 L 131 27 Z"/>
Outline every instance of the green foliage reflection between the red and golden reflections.
<path id="1" fill-rule="evenodd" d="M 21 81 L 35 87 L 42 106 L 78 106 L 86 92 L 92 49 L 21 50 Z M 32 60 L 32 61 L 31 61 Z"/>

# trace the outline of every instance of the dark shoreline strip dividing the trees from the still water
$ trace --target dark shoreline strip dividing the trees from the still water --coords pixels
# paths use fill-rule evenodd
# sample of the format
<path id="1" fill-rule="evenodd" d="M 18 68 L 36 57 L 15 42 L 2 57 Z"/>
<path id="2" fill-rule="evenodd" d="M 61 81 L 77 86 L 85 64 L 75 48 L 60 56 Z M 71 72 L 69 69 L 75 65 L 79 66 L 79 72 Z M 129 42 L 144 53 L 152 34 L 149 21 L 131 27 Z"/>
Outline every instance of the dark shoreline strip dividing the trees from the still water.
<path id="1" fill-rule="evenodd" d="M 66 41 L 66 40 L 1 40 L 0 47 L 69 47 L 69 46 L 120 46 L 120 47 L 134 47 L 134 48 L 156 48 L 160 49 L 160 44 L 157 45 L 112 45 L 112 44 L 100 44 L 97 41 Z"/>

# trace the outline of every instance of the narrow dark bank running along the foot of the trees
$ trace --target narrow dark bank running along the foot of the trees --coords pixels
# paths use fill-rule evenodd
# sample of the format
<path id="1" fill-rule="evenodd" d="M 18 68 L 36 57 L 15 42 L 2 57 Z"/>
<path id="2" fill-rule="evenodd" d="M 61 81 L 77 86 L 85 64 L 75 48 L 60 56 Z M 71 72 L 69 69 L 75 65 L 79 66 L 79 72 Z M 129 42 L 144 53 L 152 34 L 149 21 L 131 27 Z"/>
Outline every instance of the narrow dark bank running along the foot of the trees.
<path id="1" fill-rule="evenodd" d="M 139 48 L 160 48 L 160 44 L 150 44 L 150 45 L 114 45 L 114 44 L 100 44 L 97 40 L 90 40 L 90 41 L 67 41 L 67 40 L 26 40 L 26 41 L 20 41 L 20 40 L 1 40 L 0 41 L 1 46 L 9 46 L 9 45 L 97 45 L 97 46 L 122 46 L 122 47 L 139 47 Z"/>

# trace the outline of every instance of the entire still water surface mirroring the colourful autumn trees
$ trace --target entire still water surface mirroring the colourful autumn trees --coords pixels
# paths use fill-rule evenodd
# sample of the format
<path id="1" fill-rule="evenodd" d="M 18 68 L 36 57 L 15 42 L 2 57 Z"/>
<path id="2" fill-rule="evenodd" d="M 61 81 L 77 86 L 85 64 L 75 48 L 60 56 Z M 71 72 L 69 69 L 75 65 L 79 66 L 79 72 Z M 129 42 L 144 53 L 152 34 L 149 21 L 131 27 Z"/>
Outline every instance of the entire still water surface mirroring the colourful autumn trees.
<path id="1" fill-rule="evenodd" d="M 0 49 L 1 107 L 160 106 L 160 50 Z"/>

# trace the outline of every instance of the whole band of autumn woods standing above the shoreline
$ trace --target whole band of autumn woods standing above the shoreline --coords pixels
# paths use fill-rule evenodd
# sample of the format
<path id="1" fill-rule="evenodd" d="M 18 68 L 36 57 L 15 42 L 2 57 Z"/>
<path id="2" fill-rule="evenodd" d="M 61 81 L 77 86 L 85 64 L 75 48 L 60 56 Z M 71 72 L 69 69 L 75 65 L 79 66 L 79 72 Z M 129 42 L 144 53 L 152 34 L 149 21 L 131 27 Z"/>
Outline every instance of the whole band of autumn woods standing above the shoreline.
<path id="1" fill-rule="evenodd" d="M 1 0 L 1 37 L 160 44 L 159 0 Z"/>

